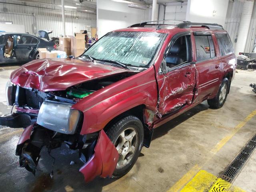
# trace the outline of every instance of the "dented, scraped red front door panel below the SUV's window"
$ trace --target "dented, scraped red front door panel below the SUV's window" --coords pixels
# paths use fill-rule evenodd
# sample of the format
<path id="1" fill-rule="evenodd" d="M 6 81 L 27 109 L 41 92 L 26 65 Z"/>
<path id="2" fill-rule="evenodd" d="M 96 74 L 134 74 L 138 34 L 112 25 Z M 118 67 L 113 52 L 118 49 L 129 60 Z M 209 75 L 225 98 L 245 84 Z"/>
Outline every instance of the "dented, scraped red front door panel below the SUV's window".
<path id="1" fill-rule="evenodd" d="M 190 105 L 196 85 L 196 67 L 194 63 L 184 64 L 160 75 L 159 113 L 172 113 L 182 106 Z"/>

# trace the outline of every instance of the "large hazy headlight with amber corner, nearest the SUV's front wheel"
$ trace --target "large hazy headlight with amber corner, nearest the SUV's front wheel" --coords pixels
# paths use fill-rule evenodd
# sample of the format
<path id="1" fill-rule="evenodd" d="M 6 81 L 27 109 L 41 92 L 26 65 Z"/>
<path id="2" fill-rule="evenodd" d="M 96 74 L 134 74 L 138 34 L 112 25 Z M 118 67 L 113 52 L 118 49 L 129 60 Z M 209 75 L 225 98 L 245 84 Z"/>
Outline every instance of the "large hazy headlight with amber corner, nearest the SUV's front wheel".
<path id="1" fill-rule="evenodd" d="M 70 107 L 70 104 L 45 101 L 40 107 L 36 123 L 56 132 L 74 134 L 80 112 Z"/>

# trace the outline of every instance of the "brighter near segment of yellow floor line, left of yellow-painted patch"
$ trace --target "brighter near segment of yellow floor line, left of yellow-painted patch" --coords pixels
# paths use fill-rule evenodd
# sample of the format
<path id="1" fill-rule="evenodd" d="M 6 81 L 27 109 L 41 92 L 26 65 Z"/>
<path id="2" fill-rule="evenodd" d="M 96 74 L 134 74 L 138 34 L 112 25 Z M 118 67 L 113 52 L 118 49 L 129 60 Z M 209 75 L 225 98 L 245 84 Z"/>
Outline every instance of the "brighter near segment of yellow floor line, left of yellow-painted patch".
<path id="1" fill-rule="evenodd" d="M 174 186 L 172 186 L 167 192 L 176 192 L 182 188 L 187 182 L 189 182 L 193 176 L 201 169 L 198 164 L 196 164 L 192 169 L 190 169 Z"/>

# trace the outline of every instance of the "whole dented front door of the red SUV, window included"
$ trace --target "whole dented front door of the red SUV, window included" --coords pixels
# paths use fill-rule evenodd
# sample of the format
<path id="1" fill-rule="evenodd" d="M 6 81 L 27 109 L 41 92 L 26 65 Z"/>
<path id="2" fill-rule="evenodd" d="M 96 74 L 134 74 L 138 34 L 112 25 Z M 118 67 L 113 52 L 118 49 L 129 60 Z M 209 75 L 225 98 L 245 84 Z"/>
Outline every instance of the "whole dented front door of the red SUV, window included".
<path id="1" fill-rule="evenodd" d="M 196 85 L 196 67 L 192 62 L 190 35 L 172 40 L 159 73 L 159 113 L 172 113 L 190 105 Z"/>

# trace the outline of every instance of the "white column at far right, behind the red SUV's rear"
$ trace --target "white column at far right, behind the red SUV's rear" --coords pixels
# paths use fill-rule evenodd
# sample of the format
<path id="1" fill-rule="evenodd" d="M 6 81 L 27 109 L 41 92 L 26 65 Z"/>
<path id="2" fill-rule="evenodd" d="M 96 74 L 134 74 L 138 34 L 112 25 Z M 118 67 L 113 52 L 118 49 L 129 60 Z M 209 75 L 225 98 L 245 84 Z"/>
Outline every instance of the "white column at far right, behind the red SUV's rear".
<path id="1" fill-rule="evenodd" d="M 254 0 L 244 2 L 235 48 L 236 56 L 238 56 L 239 52 L 244 52 L 245 49 L 246 40 L 250 28 L 250 22 L 252 18 L 253 4 Z"/>

